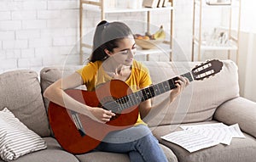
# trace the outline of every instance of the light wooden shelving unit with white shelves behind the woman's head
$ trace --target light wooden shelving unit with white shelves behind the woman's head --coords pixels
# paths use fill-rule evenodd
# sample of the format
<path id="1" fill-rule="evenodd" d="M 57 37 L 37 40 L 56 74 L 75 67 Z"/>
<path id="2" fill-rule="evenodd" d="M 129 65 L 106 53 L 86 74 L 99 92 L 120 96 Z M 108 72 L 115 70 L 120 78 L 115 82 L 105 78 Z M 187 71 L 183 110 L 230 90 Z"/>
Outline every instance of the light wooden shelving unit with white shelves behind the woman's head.
<path id="1" fill-rule="evenodd" d="M 169 7 L 163 7 L 163 8 L 106 8 L 105 7 L 105 0 L 80 0 L 80 12 L 79 12 L 79 38 L 80 38 L 80 64 L 83 64 L 84 60 L 84 47 L 91 48 L 92 45 L 86 44 L 83 42 L 83 11 L 84 10 L 93 10 L 96 12 L 101 13 L 101 20 L 105 20 L 106 14 L 117 14 L 117 13 L 132 13 L 132 12 L 146 12 L 147 13 L 147 31 L 150 31 L 150 13 L 151 12 L 157 12 L 162 10 L 168 10 L 170 11 L 171 16 L 171 29 L 170 29 L 170 41 L 165 41 L 166 45 L 163 45 L 165 47 L 165 51 L 170 53 L 169 59 L 172 61 L 172 36 L 173 36 L 173 30 L 172 30 L 172 20 L 173 20 L 173 0 L 169 0 L 171 2 L 171 6 Z M 169 46 L 168 49 L 166 49 L 166 46 Z M 160 50 L 152 49 L 152 50 L 143 50 L 138 48 L 138 52 L 141 54 L 144 54 L 147 56 L 147 60 L 149 59 L 149 54 L 153 53 L 160 53 Z"/>

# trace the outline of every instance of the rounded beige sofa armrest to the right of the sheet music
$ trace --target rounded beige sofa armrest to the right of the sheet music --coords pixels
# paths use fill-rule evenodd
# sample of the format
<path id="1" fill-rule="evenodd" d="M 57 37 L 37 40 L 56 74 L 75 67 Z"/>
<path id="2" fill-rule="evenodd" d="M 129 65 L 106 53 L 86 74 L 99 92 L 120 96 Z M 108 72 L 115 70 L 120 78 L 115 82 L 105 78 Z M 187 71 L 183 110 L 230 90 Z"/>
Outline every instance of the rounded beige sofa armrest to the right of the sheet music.
<path id="1" fill-rule="evenodd" d="M 213 116 L 227 125 L 238 123 L 241 130 L 256 137 L 256 103 L 246 98 L 234 98 L 221 104 Z"/>

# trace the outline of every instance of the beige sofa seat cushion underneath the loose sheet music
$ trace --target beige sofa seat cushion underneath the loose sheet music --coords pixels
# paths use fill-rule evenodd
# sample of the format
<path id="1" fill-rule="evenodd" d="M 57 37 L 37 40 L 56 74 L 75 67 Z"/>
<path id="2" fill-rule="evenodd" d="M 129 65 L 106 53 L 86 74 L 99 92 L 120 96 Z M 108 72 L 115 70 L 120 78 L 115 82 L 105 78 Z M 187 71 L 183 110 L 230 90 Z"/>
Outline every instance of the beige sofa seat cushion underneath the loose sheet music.
<path id="1" fill-rule="evenodd" d="M 216 121 L 208 121 L 194 124 L 216 123 Z M 189 124 L 191 125 L 191 124 Z M 158 126 L 152 128 L 154 136 L 160 139 L 172 131 L 181 130 L 178 125 Z M 160 139 L 160 143 L 171 148 L 176 154 L 178 161 L 189 162 L 216 162 L 216 161 L 232 161 L 232 162 L 253 162 L 255 161 L 256 142 L 255 138 L 243 133 L 246 138 L 232 138 L 230 145 L 218 144 L 211 148 L 201 149 L 194 153 L 189 153 L 186 149 L 165 140 Z"/>

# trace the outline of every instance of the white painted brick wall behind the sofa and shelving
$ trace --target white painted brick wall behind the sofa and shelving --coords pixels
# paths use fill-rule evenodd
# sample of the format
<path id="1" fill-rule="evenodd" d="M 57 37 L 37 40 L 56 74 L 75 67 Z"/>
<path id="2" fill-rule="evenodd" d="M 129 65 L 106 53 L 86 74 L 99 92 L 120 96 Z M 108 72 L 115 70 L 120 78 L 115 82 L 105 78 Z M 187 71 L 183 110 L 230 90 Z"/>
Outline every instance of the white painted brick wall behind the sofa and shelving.
<path id="1" fill-rule="evenodd" d="M 119 1 L 125 2 L 125 1 Z M 174 36 L 190 57 L 192 1 L 175 3 Z M 166 16 L 167 14 L 167 16 Z M 152 24 L 170 29 L 169 12 L 151 14 Z M 95 28 L 100 13 L 84 11 L 84 33 Z M 107 20 L 146 22 L 146 14 L 107 14 Z M 79 64 L 79 0 L 1 0 L 0 72 L 46 65 Z M 178 55 L 177 55 L 178 58 Z M 68 59 L 68 60 L 67 60 Z M 67 63 L 65 63 L 67 64 Z"/>

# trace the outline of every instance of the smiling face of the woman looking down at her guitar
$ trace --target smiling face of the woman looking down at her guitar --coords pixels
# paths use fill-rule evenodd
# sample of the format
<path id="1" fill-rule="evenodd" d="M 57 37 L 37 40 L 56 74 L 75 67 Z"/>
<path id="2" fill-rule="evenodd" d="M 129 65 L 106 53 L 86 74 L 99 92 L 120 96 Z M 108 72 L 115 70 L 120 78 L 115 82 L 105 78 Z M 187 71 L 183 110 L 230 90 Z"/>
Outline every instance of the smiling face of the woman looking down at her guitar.
<path id="1" fill-rule="evenodd" d="M 110 57 L 112 57 L 118 64 L 130 66 L 137 51 L 133 36 L 125 37 L 118 42 L 118 45 L 119 47 L 113 48 Z"/>

